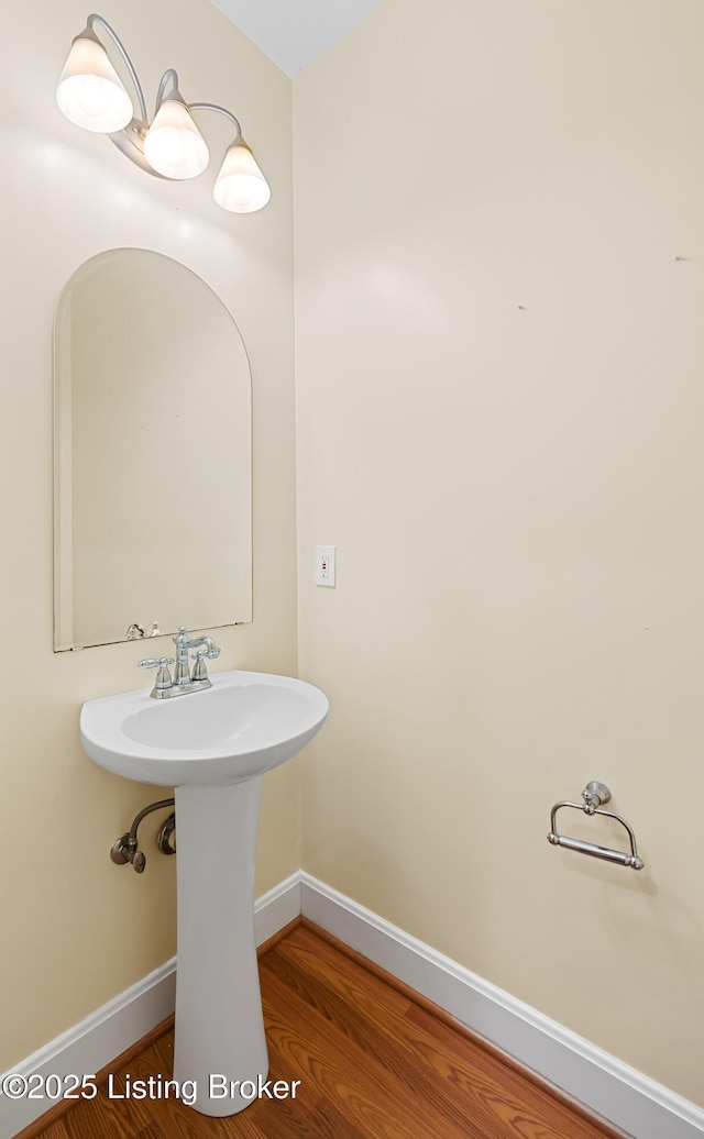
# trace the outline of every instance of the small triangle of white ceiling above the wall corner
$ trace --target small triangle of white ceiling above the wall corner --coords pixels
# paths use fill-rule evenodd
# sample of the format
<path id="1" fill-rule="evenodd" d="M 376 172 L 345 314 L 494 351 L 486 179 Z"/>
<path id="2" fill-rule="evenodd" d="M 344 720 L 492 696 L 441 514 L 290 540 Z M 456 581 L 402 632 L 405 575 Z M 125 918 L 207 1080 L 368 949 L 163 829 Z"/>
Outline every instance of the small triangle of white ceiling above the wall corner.
<path id="1" fill-rule="evenodd" d="M 212 0 L 293 79 L 382 0 Z"/>

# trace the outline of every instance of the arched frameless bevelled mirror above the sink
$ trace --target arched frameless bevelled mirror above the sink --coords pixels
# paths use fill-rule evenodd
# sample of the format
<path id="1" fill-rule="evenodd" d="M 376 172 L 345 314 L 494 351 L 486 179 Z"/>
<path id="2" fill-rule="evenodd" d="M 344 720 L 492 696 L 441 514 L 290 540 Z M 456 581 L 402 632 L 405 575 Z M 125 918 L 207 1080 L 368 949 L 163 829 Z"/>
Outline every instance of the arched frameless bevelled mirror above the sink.
<path id="1" fill-rule="evenodd" d="M 239 330 L 179 262 L 100 253 L 55 325 L 55 650 L 251 620 Z"/>

